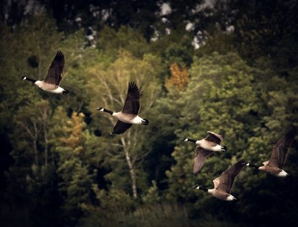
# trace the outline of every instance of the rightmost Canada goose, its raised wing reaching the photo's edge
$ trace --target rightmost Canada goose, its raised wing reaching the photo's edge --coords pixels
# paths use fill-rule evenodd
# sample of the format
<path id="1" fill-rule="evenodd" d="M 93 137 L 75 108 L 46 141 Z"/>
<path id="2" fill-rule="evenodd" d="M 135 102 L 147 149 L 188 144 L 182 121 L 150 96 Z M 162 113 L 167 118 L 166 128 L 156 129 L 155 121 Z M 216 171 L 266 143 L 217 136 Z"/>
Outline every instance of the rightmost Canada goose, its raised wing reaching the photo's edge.
<path id="1" fill-rule="evenodd" d="M 288 173 L 282 170 L 284 163 L 286 163 L 286 155 L 288 154 L 288 148 L 293 143 L 294 137 L 296 135 L 297 128 L 293 126 L 286 135 L 280 137 L 277 143 L 273 146 L 271 157 L 269 161 L 264 161 L 262 166 L 253 165 L 247 163 L 248 166 L 253 168 L 258 168 L 268 174 L 278 177 L 286 177 Z"/>

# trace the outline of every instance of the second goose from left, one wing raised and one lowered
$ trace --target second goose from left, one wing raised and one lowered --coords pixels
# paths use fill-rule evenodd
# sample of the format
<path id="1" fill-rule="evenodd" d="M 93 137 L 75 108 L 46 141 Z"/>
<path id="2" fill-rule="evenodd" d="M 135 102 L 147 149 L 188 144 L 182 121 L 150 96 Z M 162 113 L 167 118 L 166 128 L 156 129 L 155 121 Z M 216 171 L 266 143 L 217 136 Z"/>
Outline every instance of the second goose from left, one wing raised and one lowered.
<path id="1" fill-rule="evenodd" d="M 139 109 L 140 91 L 138 90 L 136 83 L 129 82 L 127 96 L 122 111 L 113 112 L 103 107 L 99 107 L 97 110 L 107 112 L 116 117 L 118 121 L 116 122 L 111 134 L 122 134 L 127 131 L 132 124 L 149 124 L 149 120 L 142 119 L 138 116 Z"/>

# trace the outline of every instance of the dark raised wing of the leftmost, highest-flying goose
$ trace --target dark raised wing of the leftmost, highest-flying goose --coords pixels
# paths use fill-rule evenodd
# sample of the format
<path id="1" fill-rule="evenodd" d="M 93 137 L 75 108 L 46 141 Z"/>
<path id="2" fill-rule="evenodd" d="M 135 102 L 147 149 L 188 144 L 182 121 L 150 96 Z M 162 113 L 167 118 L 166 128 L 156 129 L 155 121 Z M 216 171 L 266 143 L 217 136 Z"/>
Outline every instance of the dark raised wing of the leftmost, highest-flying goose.
<path id="1" fill-rule="evenodd" d="M 44 82 L 59 86 L 62 79 L 64 64 L 64 54 L 61 51 L 58 51 L 51 66 L 49 67 L 49 70 L 47 71 L 47 77 L 44 79 Z"/>

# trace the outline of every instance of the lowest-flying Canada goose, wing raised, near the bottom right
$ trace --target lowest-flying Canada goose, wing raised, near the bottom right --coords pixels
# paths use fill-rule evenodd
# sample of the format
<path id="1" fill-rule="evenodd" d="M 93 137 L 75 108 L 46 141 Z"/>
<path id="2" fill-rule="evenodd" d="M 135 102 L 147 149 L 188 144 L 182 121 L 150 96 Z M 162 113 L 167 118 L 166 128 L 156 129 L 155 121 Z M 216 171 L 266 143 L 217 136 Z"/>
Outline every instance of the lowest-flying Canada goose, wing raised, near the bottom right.
<path id="1" fill-rule="evenodd" d="M 225 172 L 223 172 L 221 176 L 213 180 L 214 189 L 206 189 L 199 186 L 193 186 L 193 189 L 201 189 L 203 191 L 206 191 L 219 200 L 237 200 L 237 198 L 232 196 L 230 193 L 234 185 L 235 177 L 240 173 L 240 171 L 243 169 L 243 167 L 245 167 L 246 164 L 247 162 L 243 159 L 225 170 Z"/>

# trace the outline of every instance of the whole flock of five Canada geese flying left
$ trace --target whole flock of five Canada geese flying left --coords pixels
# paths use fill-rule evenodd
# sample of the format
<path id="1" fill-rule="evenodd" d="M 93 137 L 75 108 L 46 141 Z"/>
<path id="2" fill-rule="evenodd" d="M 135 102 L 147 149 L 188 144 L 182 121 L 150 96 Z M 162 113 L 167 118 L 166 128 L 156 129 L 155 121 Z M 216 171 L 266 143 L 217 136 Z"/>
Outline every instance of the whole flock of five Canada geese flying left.
<path id="1" fill-rule="evenodd" d="M 62 80 L 64 71 L 64 64 L 64 54 L 61 51 L 58 51 L 51 66 L 49 67 L 47 77 L 45 77 L 43 81 L 38 81 L 29 77 L 21 77 L 21 79 L 34 83 L 38 86 L 38 88 L 45 90 L 46 92 L 67 94 L 69 92 L 60 87 L 60 82 Z M 138 90 L 136 83 L 133 82 L 129 82 L 127 96 L 121 111 L 114 112 L 103 107 L 99 107 L 97 110 L 106 112 L 118 119 L 111 134 L 125 133 L 125 131 L 127 131 L 132 124 L 149 124 L 149 120 L 140 118 L 140 116 L 138 116 L 138 111 L 140 110 L 140 91 Z M 193 188 L 206 191 L 219 200 L 232 201 L 236 200 L 236 198 L 231 195 L 234 180 L 245 166 L 257 168 L 258 170 L 262 170 L 273 176 L 286 177 L 288 174 L 282 170 L 282 168 L 284 168 L 288 148 L 290 148 L 291 144 L 293 143 L 296 132 L 297 127 L 293 126 L 288 133 L 283 135 L 273 146 L 269 161 L 264 161 L 262 166 L 247 163 L 247 161 L 242 159 L 236 164 L 227 168 L 227 170 L 225 170 L 221 176 L 213 180 L 213 189 L 206 189 L 197 185 L 193 186 Z M 212 155 L 214 152 L 227 151 L 226 146 L 221 146 L 221 142 L 223 142 L 223 137 L 221 135 L 211 131 L 208 131 L 207 133 L 208 136 L 201 140 L 190 139 L 188 137 L 184 137 L 182 139 L 185 142 L 193 142 L 196 145 L 195 161 L 193 166 L 194 174 L 197 174 L 201 168 L 203 168 L 206 158 Z"/>

